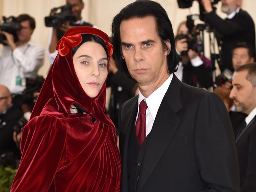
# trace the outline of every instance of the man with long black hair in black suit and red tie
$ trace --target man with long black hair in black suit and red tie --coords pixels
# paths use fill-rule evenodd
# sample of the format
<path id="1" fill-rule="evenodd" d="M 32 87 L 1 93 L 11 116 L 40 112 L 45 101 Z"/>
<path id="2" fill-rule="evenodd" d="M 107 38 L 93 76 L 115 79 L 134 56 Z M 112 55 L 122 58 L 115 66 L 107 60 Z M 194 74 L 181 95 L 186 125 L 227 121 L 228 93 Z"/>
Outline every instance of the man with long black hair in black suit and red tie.
<path id="1" fill-rule="evenodd" d="M 227 110 L 216 94 L 173 74 L 178 61 L 163 7 L 129 4 L 113 19 L 112 34 L 117 63 L 139 84 L 139 95 L 119 110 L 121 191 L 238 192 Z"/>

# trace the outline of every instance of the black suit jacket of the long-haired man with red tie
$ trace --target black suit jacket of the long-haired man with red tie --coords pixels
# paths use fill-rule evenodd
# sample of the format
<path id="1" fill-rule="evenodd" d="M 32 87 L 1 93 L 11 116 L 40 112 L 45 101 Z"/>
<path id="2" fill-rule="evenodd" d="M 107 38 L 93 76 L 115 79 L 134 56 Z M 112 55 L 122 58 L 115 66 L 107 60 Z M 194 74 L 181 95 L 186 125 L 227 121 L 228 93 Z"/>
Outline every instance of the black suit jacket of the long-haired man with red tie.
<path id="1" fill-rule="evenodd" d="M 127 153 L 138 96 L 119 110 L 121 191 L 128 191 Z M 239 191 L 234 133 L 222 100 L 173 76 L 141 163 L 137 192 Z"/>

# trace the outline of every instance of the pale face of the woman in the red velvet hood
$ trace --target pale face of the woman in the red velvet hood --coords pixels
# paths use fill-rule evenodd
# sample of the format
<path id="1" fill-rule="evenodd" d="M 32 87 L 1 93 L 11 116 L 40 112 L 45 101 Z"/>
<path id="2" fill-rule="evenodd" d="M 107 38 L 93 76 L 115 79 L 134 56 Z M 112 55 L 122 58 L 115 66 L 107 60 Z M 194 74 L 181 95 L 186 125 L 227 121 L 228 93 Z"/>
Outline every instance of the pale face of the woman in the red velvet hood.
<path id="1" fill-rule="evenodd" d="M 96 42 L 85 42 L 73 55 L 73 63 L 83 90 L 89 97 L 96 97 L 108 76 L 104 48 Z"/>

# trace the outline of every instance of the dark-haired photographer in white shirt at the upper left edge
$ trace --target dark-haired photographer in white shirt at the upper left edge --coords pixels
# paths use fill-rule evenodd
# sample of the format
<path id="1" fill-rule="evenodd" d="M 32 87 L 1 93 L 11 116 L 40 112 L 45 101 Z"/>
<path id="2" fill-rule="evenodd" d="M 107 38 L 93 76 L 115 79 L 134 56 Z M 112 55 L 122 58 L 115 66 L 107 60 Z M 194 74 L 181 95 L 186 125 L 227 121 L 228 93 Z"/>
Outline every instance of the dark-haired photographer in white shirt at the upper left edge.
<path id="1" fill-rule="evenodd" d="M 35 29 L 34 18 L 22 14 L 17 17 L 17 21 L 21 25 L 21 30 L 17 31 L 17 42 L 11 33 L 0 32 L 6 36 L 3 42 L 7 44 L 0 49 L 0 84 L 8 87 L 11 94 L 20 95 L 25 89 L 21 79 L 36 76 L 43 65 L 44 48 L 31 41 Z"/>

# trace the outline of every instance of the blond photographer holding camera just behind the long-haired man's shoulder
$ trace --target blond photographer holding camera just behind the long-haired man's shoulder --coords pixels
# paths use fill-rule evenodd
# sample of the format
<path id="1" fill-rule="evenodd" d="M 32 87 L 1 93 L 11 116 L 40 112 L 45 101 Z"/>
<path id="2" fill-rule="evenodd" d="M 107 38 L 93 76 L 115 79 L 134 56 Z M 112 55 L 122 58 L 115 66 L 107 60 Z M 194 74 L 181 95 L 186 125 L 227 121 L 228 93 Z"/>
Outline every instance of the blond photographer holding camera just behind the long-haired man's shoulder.
<path id="1" fill-rule="evenodd" d="M 191 32 L 189 33 L 189 31 Z M 188 85 L 209 88 L 212 86 L 211 63 L 200 52 L 193 50 L 192 47 L 198 44 L 198 41 L 194 40 L 197 39 L 195 34 L 197 33 L 193 29 L 189 30 L 187 28 L 186 21 L 181 22 L 178 26 L 176 51 L 181 60 L 178 70 L 174 74 Z M 189 45 L 188 41 L 191 41 L 192 45 Z"/>

